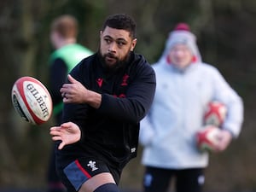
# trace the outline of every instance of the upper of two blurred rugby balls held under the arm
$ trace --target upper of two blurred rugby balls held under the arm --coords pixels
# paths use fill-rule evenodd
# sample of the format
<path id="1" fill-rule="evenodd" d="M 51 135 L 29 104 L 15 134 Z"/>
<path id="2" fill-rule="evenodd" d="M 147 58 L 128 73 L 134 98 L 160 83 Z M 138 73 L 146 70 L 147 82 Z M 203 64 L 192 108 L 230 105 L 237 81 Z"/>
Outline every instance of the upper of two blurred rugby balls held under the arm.
<path id="1" fill-rule="evenodd" d="M 204 115 L 205 125 L 221 127 L 227 114 L 227 108 L 222 102 L 209 102 Z"/>

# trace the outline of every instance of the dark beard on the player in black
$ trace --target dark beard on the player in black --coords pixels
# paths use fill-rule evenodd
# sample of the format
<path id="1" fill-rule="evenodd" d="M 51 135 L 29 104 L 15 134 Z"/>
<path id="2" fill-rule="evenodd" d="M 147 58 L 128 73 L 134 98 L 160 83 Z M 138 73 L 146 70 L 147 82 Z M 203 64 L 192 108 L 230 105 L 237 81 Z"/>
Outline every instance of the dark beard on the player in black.
<path id="1" fill-rule="evenodd" d="M 131 55 L 131 51 L 129 51 L 126 55 L 125 58 L 120 60 L 118 57 L 116 57 L 115 55 L 113 55 L 112 53 L 107 53 L 107 54 L 102 54 L 102 51 L 99 50 L 99 57 L 100 60 L 102 62 L 102 67 L 108 69 L 108 70 L 114 70 L 114 69 L 118 69 L 120 67 L 125 66 L 125 64 L 129 61 L 130 55 Z M 110 63 L 108 61 L 108 58 L 110 58 L 111 60 L 115 60 L 115 62 Z"/>

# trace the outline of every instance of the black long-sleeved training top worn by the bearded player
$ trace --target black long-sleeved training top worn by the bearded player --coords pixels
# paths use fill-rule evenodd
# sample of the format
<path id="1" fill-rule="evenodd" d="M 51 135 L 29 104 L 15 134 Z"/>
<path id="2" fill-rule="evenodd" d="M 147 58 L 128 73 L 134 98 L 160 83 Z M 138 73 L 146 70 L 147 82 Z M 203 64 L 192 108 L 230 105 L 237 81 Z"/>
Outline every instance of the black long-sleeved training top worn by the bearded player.
<path id="1" fill-rule="evenodd" d="M 143 55 L 131 52 L 122 67 L 107 70 L 99 55 L 81 61 L 70 73 L 89 90 L 102 94 L 100 108 L 88 104 L 65 104 L 63 122 L 79 125 L 79 143 L 57 150 L 59 166 L 80 157 L 107 160 L 122 169 L 137 155 L 140 120 L 154 99 L 155 74 Z"/>

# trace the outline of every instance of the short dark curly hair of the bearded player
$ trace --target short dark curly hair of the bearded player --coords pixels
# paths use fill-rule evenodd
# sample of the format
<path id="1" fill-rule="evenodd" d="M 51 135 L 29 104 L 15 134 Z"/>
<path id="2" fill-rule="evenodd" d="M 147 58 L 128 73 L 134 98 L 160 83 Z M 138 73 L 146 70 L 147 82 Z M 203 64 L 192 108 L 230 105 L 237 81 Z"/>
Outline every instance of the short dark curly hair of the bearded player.
<path id="1" fill-rule="evenodd" d="M 105 20 L 102 26 L 102 31 L 104 31 L 107 26 L 114 29 L 123 29 L 127 32 L 130 32 L 131 38 L 136 38 L 137 36 L 136 22 L 129 15 L 110 15 L 108 16 L 107 20 Z"/>

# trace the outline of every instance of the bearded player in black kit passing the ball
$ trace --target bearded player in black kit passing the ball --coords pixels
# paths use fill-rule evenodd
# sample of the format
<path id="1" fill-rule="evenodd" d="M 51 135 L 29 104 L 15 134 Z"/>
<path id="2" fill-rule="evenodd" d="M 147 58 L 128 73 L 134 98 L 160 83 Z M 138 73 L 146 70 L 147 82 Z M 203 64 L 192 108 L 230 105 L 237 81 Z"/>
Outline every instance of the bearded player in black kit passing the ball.
<path id="1" fill-rule="evenodd" d="M 99 49 L 68 74 L 61 87 L 56 167 L 68 192 L 119 192 L 125 165 L 137 156 L 140 120 L 154 98 L 155 75 L 134 52 L 137 26 L 129 15 L 110 15 Z"/>

